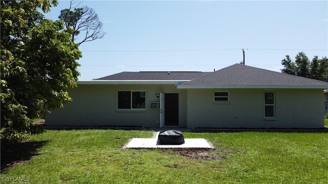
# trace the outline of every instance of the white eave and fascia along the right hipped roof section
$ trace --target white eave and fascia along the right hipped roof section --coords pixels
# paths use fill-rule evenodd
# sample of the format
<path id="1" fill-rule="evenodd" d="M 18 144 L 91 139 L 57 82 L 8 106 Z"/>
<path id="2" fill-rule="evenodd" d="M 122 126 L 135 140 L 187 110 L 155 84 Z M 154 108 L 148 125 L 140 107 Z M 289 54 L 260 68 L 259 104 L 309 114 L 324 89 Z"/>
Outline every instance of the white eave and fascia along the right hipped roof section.
<path id="1" fill-rule="evenodd" d="M 328 86 L 322 85 L 178 85 L 179 89 L 326 89 Z"/>

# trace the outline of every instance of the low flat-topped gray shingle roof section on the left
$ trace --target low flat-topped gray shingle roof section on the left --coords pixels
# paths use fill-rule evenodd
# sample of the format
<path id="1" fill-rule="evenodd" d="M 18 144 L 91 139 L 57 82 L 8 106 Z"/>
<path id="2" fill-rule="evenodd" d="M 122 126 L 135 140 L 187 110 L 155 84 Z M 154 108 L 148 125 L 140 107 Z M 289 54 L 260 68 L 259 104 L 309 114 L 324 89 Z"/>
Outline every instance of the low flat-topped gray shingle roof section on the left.
<path id="1" fill-rule="evenodd" d="M 122 72 L 95 80 L 192 80 L 213 72 Z"/>

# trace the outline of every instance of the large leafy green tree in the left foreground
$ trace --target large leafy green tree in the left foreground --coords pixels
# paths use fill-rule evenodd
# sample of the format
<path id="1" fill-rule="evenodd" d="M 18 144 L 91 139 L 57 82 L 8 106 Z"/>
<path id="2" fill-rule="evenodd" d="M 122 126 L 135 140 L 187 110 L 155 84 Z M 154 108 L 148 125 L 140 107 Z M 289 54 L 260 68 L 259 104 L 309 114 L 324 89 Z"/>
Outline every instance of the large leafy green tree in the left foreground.
<path id="1" fill-rule="evenodd" d="M 1 139 L 35 132 L 32 119 L 71 101 L 81 57 L 64 22 L 45 19 L 57 1 L 1 1 Z"/>

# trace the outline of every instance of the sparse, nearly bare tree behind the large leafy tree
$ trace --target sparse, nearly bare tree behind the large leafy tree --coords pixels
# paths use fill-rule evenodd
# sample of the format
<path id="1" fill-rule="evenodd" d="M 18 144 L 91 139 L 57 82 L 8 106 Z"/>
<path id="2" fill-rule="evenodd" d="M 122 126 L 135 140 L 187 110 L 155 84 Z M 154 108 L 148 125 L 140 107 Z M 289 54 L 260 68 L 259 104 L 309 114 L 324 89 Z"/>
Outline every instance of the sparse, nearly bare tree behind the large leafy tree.
<path id="1" fill-rule="evenodd" d="M 83 42 L 101 39 L 105 36 L 103 32 L 103 23 L 99 21 L 98 14 L 87 6 L 77 8 L 79 2 L 70 1 L 70 7 L 60 11 L 58 18 L 65 22 L 66 28 L 72 28 L 74 31 L 71 36 L 72 41 L 76 41 L 76 36 L 81 32 L 85 33 L 84 38 L 77 42 L 80 45 Z M 74 10 L 72 10 L 74 9 Z"/>

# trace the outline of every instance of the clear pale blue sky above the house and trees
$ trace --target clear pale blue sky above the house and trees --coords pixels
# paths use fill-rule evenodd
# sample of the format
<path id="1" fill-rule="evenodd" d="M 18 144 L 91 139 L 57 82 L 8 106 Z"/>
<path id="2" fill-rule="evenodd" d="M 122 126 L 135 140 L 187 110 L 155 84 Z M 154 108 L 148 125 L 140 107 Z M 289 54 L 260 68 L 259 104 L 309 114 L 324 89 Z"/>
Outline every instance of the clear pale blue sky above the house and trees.
<path id="1" fill-rule="evenodd" d="M 119 72 L 211 72 L 239 63 L 280 72 L 285 55 L 328 56 L 327 1 L 83 1 L 106 35 L 82 43 L 79 80 Z M 58 19 L 69 1 L 46 18 Z M 79 36 L 79 37 L 82 37 Z"/>

